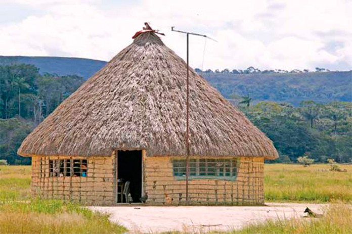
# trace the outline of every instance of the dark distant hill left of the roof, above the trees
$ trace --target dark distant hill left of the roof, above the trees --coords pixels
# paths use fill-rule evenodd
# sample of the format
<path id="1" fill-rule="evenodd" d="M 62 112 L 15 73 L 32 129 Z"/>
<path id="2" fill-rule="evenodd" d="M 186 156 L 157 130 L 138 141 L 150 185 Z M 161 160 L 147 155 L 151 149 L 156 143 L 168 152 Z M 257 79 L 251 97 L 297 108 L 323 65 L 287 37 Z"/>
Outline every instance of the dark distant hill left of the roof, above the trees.
<path id="1" fill-rule="evenodd" d="M 107 62 L 93 59 L 64 57 L 0 56 L 0 65 L 25 63 L 39 68 L 39 72 L 58 75 L 78 75 L 87 79 Z"/>

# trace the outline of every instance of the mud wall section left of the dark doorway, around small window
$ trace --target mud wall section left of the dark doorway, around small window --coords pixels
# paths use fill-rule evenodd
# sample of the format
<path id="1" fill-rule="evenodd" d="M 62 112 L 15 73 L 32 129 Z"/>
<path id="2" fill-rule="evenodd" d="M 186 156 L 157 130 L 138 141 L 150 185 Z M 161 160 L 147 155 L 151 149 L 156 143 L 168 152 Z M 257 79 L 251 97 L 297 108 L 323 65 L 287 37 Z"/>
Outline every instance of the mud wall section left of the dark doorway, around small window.
<path id="1" fill-rule="evenodd" d="M 49 160 L 86 159 L 87 174 L 51 176 Z M 82 205 L 113 205 L 114 157 L 32 157 L 32 194 L 44 199 L 79 202 Z"/>

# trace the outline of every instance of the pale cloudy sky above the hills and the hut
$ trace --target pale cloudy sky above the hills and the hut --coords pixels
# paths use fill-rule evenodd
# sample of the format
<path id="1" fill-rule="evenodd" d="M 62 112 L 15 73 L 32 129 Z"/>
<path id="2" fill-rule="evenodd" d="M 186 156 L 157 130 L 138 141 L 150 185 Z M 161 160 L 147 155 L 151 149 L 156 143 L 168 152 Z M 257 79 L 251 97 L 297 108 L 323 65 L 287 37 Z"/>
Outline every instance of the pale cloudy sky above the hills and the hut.
<path id="1" fill-rule="evenodd" d="M 0 55 L 109 61 L 149 22 L 205 69 L 352 69 L 352 0 L 0 0 Z"/>

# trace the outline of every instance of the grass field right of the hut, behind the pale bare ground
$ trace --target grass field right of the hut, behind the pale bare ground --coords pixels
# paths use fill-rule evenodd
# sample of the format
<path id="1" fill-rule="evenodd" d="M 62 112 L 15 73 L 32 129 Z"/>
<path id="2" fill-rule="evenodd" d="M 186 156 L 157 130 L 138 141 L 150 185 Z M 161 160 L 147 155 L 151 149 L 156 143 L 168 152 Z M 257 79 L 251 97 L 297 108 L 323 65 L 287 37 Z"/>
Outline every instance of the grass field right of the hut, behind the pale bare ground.
<path id="1" fill-rule="evenodd" d="M 329 165 L 303 167 L 265 164 L 264 194 L 267 202 L 352 202 L 352 165 L 347 172 L 329 171 Z"/>

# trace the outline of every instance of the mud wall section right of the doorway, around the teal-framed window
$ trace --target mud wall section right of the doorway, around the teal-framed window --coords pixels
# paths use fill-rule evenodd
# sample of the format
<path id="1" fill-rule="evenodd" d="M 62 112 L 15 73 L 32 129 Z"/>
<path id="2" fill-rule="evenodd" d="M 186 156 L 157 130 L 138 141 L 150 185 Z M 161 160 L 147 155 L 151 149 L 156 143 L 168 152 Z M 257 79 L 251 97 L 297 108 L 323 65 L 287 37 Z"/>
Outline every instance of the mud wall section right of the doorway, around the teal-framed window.
<path id="1" fill-rule="evenodd" d="M 165 193 L 173 198 L 172 205 L 186 204 L 186 180 L 173 176 L 171 157 L 145 157 L 144 175 L 149 204 L 169 204 Z M 189 180 L 189 204 L 262 205 L 263 189 L 263 158 L 241 157 L 236 180 Z"/>

